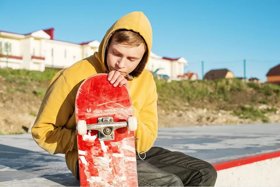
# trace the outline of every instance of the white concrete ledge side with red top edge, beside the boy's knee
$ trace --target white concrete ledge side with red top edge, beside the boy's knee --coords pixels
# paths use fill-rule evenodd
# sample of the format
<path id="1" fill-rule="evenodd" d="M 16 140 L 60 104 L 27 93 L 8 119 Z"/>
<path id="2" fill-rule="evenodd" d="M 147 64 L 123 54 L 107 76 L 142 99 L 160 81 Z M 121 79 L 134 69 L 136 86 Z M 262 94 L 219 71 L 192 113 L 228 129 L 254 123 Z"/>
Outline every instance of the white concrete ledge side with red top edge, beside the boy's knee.
<path id="1" fill-rule="evenodd" d="M 279 186 L 280 151 L 213 165 L 215 186 Z"/>

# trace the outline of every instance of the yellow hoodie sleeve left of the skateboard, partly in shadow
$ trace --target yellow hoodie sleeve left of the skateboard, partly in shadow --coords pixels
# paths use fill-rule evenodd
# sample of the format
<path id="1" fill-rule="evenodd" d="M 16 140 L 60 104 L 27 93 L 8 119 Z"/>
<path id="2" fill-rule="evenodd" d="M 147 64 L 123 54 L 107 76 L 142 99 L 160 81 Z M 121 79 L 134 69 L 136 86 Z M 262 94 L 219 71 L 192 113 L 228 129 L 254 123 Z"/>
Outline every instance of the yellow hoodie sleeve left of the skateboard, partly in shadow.
<path id="1" fill-rule="evenodd" d="M 74 96 L 63 72 L 58 72 L 45 93 L 31 129 L 35 142 L 51 154 L 77 149 L 76 131 L 64 127 L 74 109 Z"/>

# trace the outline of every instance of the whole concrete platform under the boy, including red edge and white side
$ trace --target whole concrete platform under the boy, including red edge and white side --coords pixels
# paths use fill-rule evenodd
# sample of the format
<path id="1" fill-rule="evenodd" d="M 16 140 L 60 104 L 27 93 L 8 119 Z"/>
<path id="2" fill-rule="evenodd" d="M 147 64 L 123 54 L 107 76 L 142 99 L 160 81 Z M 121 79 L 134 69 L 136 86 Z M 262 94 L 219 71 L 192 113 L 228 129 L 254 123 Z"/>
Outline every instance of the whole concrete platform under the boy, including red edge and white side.
<path id="1" fill-rule="evenodd" d="M 279 186 L 280 124 L 162 128 L 154 146 L 206 160 L 215 186 Z M 0 186 L 80 186 L 64 155 L 50 155 L 30 134 L 0 136 Z"/>

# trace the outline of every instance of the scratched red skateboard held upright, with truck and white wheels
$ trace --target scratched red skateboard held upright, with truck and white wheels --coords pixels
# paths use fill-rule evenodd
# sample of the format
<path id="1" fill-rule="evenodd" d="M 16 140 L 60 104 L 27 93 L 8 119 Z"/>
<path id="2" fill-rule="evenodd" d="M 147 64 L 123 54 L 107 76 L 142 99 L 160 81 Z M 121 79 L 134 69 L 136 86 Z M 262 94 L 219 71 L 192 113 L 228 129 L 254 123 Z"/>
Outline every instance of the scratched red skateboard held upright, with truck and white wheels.
<path id="1" fill-rule="evenodd" d="M 81 186 L 138 186 L 132 101 L 108 74 L 80 85 L 75 101 Z"/>

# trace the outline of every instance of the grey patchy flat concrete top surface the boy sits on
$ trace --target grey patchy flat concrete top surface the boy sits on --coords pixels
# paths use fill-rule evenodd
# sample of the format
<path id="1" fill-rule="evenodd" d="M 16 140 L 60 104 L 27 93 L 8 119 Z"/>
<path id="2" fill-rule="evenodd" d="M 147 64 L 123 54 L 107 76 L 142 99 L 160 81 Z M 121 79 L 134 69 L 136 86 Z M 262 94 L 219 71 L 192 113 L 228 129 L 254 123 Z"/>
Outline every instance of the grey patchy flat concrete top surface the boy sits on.
<path id="1" fill-rule="evenodd" d="M 212 164 L 280 150 L 280 123 L 161 128 L 154 146 Z M 80 186 L 64 155 L 50 155 L 31 134 L 0 136 L 0 186 Z"/>

